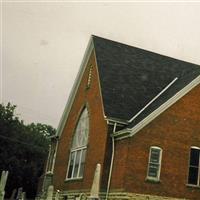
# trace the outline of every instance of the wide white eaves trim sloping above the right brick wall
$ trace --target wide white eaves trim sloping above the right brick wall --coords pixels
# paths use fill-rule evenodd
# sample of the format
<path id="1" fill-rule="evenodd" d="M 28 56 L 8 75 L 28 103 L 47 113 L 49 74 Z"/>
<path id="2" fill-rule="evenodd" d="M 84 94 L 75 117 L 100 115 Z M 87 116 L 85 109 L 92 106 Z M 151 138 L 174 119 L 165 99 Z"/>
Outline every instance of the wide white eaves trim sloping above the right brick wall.
<path id="1" fill-rule="evenodd" d="M 191 81 L 187 86 L 185 86 L 182 90 L 177 92 L 173 97 L 171 97 L 168 101 L 166 101 L 159 108 L 153 111 L 150 115 L 144 118 L 141 122 L 136 124 L 133 128 L 123 129 L 119 132 L 116 132 L 113 134 L 113 137 L 115 137 L 116 140 L 132 137 L 138 131 L 144 128 L 147 124 L 149 124 L 152 120 L 154 120 L 158 115 L 163 113 L 167 108 L 169 108 L 171 105 L 176 103 L 180 98 L 182 98 L 185 94 L 187 94 L 190 90 L 192 90 L 198 84 L 200 84 L 200 76 L 198 76 L 193 81 Z"/>

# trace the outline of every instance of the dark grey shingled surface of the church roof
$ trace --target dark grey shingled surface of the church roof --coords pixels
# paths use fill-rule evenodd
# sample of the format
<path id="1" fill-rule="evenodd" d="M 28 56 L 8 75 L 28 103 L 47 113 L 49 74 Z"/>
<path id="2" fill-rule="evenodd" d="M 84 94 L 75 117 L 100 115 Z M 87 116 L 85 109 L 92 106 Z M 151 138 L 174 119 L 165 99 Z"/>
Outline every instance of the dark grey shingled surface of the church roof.
<path id="1" fill-rule="evenodd" d="M 176 77 L 134 126 L 200 75 L 200 66 L 93 36 L 105 115 L 130 120 Z"/>

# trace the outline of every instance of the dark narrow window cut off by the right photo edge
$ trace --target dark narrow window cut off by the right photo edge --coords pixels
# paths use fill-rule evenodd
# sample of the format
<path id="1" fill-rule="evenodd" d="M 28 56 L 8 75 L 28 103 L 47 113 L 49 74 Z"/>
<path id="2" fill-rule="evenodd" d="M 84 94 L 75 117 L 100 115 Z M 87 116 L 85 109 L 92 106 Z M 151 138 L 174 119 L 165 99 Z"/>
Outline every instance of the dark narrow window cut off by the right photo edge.
<path id="1" fill-rule="evenodd" d="M 200 148 L 192 147 L 190 150 L 190 164 L 189 164 L 189 175 L 188 175 L 188 184 L 191 185 L 200 185 Z"/>

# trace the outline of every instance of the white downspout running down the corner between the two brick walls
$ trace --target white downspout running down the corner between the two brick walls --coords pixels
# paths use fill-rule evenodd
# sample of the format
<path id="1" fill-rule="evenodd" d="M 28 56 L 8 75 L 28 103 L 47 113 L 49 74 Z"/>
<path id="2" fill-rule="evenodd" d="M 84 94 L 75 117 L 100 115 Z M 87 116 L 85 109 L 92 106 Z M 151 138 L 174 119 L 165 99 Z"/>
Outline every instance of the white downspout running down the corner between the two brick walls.
<path id="1" fill-rule="evenodd" d="M 117 126 L 117 123 L 115 123 L 114 126 L 113 126 L 113 133 L 115 133 L 116 126 Z M 108 176 L 108 184 L 107 184 L 107 191 L 106 191 L 105 200 L 108 199 L 108 194 L 109 194 L 109 190 L 110 190 L 110 181 L 111 181 L 111 177 L 112 177 L 114 156 L 115 156 L 115 139 L 114 139 L 114 136 L 112 136 L 112 156 L 111 156 L 111 162 L 110 162 L 110 171 L 109 171 L 109 176 Z"/>

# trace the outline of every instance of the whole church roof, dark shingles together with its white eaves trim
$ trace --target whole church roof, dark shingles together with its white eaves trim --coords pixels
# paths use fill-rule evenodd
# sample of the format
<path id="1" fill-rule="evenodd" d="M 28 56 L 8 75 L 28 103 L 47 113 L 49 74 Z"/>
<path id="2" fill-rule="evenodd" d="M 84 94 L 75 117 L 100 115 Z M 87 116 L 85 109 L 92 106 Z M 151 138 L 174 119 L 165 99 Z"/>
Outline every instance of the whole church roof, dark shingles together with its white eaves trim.
<path id="1" fill-rule="evenodd" d="M 193 87 L 200 66 L 92 36 L 57 127 L 61 136 L 91 52 L 95 50 L 104 115 L 126 122 L 116 138 L 134 135 Z M 136 116 L 136 117 L 135 117 Z"/>

